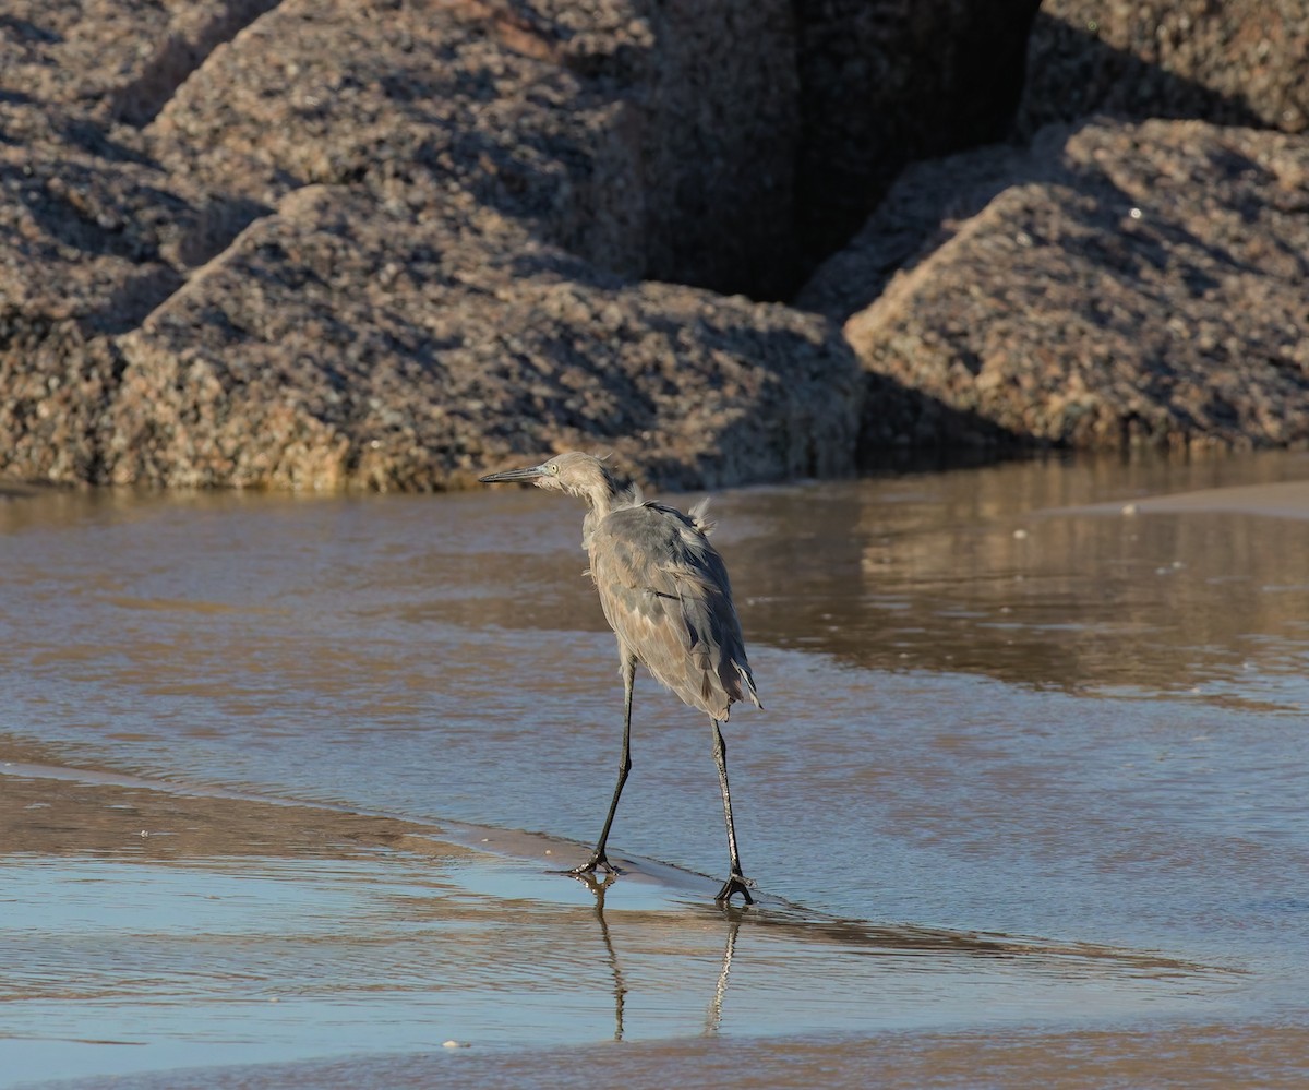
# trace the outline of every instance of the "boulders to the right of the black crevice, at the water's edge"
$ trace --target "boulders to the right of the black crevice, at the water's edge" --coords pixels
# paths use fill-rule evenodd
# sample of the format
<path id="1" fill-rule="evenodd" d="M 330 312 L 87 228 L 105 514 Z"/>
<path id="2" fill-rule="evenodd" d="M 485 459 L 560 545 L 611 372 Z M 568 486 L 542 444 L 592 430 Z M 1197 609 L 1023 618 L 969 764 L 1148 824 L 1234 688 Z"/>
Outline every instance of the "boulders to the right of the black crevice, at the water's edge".
<path id="1" fill-rule="evenodd" d="M 1022 143 L 910 165 L 797 299 L 864 444 L 1309 443 L 1306 42 L 1292 0 L 1046 0 Z"/>

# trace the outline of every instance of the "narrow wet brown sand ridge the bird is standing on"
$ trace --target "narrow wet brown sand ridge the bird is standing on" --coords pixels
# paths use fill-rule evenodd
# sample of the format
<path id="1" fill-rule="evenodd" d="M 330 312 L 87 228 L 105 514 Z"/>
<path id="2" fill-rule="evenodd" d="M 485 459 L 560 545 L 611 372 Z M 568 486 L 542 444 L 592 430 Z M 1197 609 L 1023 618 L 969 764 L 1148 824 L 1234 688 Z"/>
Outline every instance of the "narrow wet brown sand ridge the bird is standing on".
<path id="1" fill-rule="evenodd" d="M 182 786 L 106 769 L 21 760 L 50 755 L 43 747 L 14 743 L 0 735 L 0 844 L 13 854 L 122 858 L 127 862 L 229 863 L 233 859 L 331 858 L 377 859 L 402 852 L 442 866 L 495 867 L 509 859 L 537 870 L 551 884 L 573 890 L 556 871 L 585 848 L 545 833 L 493 829 L 465 823 L 431 825 L 359 814 L 339 807 L 260 798 L 225 789 Z M 979 934 L 916 926 L 873 924 L 816 912 L 755 890 L 751 909 L 724 912 L 712 904 L 716 879 L 657 859 L 613 852 L 620 878 L 606 884 L 579 882 L 593 895 L 611 887 L 641 887 L 669 904 L 694 913 L 789 933 L 852 949 L 928 951 L 979 958 L 1103 959 L 1119 967 L 1164 973 L 1225 972 L 1149 951 L 1128 951 L 1029 937 Z M 620 880 L 622 886 L 617 883 Z M 600 887 L 597 890 L 597 887 Z M 656 892 L 657 891 L 657 892 Z M 600 897 L 603 908 L 605 897 Z"/>

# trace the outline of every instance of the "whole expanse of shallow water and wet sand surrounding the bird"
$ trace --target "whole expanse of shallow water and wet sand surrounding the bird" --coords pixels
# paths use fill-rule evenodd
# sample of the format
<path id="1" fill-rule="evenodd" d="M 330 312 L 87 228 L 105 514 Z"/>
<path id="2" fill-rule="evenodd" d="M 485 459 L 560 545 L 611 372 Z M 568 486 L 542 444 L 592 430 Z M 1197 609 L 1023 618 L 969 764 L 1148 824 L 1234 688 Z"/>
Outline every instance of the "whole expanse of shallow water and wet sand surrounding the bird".
<path id="1" fill-rule="evenodd" d="M 615 1039 L 630 1085 L 1293 1085 L 1306 481 L 716 498 L 767 707 L 726 913 L 708 723 L 644 677 L 626 873 L 548 873 L 620 726 L 572 502 L 4 495 L 0 1085 L 562 1085 Z"/>

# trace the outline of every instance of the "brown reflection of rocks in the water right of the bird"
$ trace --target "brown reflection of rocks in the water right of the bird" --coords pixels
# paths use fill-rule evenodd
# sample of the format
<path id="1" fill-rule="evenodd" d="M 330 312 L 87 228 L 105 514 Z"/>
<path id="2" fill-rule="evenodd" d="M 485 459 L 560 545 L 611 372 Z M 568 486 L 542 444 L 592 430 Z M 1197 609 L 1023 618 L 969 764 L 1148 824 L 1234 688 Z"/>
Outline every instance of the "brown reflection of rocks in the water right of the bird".
<path id="1" fill-rule="evenodd" d="M 751 495 L 751 517 L 778 531 L 725 546 L 742 624 L 882 669 L 1190 688 L 1240 668 L 1242 633 L 1297 624 L 1302 595 L 1261 587 L 1309 570 L 1302 527 L 1203 504 L 1075 508 L 1293 469 L 1225 465 L 1035 460 Z"/>

